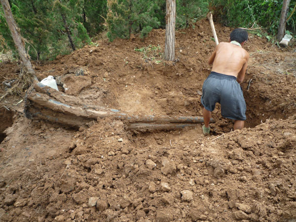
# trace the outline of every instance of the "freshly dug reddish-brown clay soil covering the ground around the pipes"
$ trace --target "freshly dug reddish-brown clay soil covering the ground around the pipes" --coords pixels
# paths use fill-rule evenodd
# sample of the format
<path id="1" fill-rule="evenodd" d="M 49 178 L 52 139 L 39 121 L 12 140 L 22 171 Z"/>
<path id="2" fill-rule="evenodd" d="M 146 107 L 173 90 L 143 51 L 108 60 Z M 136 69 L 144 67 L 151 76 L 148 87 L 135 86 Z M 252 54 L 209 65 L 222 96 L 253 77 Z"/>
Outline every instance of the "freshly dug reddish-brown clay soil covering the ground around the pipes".
<path id="1" fill-rule="evenodd" d="M 228 41 L 230 28 L 217 24 L 216 30 Z M 85 104 L 202 116 L 211 37 L 207 21 L 176 32 L 175 62 L 161 57 L 165 30 L 153 30 L 144 40 L 103 39 L 34 65 L 39 80 L 53 75 L 60 91 Z M 250 34 L 242 131 L 231 130 L 218 104 L 204 136 L 201 124 L 128 131 L 114 118 L 73 129 L 27 119 L 23 97 L 6 97 L 0 104 L 0 221 L 295 222 L 295 40 L 290 43 L 279 48 Z M 17 78 L 20 65 L 3 62 L 0 71 L 2 94 L 3 81 Z"/>

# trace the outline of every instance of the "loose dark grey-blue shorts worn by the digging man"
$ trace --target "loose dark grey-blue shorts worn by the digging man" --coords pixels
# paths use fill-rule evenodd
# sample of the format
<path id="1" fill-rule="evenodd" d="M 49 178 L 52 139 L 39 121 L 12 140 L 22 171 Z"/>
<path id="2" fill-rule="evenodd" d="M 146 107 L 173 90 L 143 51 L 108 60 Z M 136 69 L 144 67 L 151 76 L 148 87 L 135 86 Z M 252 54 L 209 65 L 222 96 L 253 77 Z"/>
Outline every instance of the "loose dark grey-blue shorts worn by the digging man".
<path id="1" fill-rule="evenodd" d="M 246 102 L 235 76 L 211 72 L 202 86 L 201 103 L 208 111 L 220 103 L 223 117 L 246 120 Z"/>

